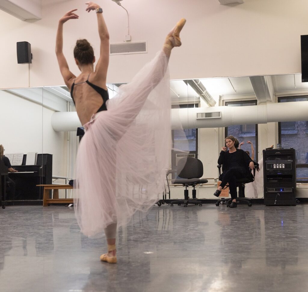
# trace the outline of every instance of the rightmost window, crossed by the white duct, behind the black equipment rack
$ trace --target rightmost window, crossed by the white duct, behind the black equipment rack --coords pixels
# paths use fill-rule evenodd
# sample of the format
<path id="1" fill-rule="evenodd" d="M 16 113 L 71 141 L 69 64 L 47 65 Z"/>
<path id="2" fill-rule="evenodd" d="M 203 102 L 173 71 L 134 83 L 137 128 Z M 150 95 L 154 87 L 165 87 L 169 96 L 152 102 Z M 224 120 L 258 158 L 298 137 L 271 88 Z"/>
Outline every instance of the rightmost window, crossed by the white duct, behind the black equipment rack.
<path id="1" fill-rule="evenodd" d="M 308 101 L 308 97 L 279 97 L 278 102 Z M 291 121 L 278 123 L 278 143 L 282 148 L 294 148 L 296 152 L 297 182 L 308 181 L 308 122 Z"/>

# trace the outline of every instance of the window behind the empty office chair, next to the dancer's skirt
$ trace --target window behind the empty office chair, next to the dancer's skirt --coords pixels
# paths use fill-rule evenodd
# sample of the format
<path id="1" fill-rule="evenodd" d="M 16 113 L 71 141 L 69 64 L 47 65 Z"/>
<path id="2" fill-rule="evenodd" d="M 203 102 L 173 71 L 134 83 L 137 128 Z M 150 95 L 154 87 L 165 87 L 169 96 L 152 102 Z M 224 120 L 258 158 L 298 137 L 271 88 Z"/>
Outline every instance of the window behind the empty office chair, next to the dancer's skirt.
<path id="1" fill-rule="evenodd" d="M 198 107 L 198 104 L 179 105 L 179 107 L 193 108 Z M 172 130 L 172 144 L 173 148 L 188 152 L 185 154 L 172 150 L 172 169 L 176 169 L 177 162 L 181 158 L 187 156 L 198 158 L 198 129 L 184 129 L 184 133 L 183 130 Z M 172 178 L 176 176 L 177 174 L 172 174 Z"/>

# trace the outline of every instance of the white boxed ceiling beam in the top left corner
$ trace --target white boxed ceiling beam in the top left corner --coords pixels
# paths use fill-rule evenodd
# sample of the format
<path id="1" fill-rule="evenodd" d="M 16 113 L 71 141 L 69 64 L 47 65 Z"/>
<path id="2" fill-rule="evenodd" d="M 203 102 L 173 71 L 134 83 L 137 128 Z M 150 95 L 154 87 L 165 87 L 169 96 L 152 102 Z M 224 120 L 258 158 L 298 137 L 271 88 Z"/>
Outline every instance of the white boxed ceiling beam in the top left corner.
<path id="1" fill-rule="evenodd" d="M 0 0 L 0 9 L 25 21 L 42 19 L 41 0 Z"/>

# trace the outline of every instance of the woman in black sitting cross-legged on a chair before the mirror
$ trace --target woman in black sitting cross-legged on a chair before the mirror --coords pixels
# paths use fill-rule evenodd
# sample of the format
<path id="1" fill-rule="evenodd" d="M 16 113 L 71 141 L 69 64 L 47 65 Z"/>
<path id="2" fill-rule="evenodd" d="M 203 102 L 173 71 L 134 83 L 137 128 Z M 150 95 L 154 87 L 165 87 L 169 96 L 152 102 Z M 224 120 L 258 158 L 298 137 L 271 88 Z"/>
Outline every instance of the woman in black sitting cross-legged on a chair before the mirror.
<path id="1" fill-rule="evenodd" d="M 244 150 L 237 149 L 239 142 L 234 136 L 226 137 L 225 145 L 226 147 L 221 148 L 221 152 L 218 158 L 218 164 L 223 164 L 224 171 L 219 177 L 221 184 L 215 191 L 214 195 L 218 197 L 221 193 L 221 190 L 227 183 L 229 183 L 229 190 L 232 199 L 229 207 L 236 208 L 236 180 L 245 176 L 249 176 L 249 168 L 252 170 L 255 163 Z M 227 148 L 229 148 L 228 151 Z"/>

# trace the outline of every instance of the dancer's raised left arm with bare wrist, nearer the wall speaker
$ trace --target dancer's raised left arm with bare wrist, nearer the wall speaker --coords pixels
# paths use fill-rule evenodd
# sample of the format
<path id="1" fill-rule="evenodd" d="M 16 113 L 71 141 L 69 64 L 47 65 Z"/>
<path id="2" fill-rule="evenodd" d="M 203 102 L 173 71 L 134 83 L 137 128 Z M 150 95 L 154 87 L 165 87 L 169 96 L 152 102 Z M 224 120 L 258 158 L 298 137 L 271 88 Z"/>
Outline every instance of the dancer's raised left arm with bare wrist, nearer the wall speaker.
<path id="1" fill-rule="evenodd" d="M 69 19 L 78 19 L 78 15 L 74 13 L 77 9 L 73 9 L 68 11 L 66 14 L 63 15 L 63 17 L 59 20 L 58 25 L 58 31 L 57 31 L 57 37 L 56 37 L 56 55 L 60 67 L 60 71 L 62 74 L 62 77 L 64 79 L 65 84 L 67 87 L 71 90 L 71 85 L 73 83 L 74 78 L 76 76 L 71 73 L 71 71 L 68 68 L 67 61 L 63 54 L 63 24 L 67 22 Z"/>

